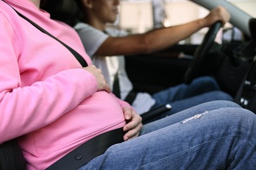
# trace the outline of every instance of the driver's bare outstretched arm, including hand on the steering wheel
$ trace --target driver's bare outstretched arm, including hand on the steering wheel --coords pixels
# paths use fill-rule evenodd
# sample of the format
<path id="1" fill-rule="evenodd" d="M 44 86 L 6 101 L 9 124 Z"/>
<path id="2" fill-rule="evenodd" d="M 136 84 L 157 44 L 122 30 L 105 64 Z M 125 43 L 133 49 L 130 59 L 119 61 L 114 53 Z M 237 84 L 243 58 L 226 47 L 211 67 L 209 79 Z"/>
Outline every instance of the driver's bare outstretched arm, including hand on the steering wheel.
<path id="1" fill-rule="evenodd" d="M 221 21 L 224 25 L 228 20 L 230 20 L 230 14 L 226 9 L 216 7 L 205 18 L 187 24 L 154 29 L 147 33 L 127 37 L 108 37 L 95 54 L 116 56 L 155 52 L 176 44 L 203 27 L 209 27 L 217 21 Z"/>

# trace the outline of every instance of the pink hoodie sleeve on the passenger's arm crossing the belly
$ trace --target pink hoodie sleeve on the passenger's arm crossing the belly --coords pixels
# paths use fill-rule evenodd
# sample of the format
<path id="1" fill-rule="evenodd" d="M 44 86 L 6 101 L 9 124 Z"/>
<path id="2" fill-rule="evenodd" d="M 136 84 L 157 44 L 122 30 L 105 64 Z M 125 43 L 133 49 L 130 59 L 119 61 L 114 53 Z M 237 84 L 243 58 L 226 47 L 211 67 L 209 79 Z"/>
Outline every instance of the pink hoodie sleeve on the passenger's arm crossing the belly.
<path id="1" fill-rule="evenodd" d="M 97 90 L 95 76 L 84 69 L 67 69 L 24 86 L 21 46 L 0 12 L 0 143 L 47 126 L 74 109 Z"/>

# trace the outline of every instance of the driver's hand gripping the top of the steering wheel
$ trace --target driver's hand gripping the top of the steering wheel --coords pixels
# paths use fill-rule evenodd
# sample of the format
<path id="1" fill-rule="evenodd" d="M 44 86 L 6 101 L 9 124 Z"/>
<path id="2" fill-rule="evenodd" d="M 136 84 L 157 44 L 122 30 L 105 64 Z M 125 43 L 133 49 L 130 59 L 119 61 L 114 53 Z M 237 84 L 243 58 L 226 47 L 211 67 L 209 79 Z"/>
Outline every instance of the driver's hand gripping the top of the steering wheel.
<path id="1" fill-rule="evenodd" d="M 206 27 L 209 27 L 217 21 L 221 21 L 224 25 L 230 20 L 230 14 L 224 7 L 218 6 L 211 10 L 211 12 L 205 18 L 203 18 L 203 20 L 205 20 Z"/>

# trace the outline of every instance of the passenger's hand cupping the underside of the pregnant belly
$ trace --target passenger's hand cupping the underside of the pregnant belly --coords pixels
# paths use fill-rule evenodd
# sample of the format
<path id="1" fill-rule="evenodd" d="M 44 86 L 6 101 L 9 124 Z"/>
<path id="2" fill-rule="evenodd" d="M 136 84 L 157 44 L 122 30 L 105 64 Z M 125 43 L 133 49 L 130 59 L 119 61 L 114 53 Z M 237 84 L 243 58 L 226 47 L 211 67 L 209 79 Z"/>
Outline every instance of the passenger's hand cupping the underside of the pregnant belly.
<path id="1" fill-rule="evenodd" d="M 123 116 L 127 124 L 123 127 L 123 131 L 127 131 L 123 136 L 123 140 L 127 141 L 139 136 L 142 127 L 142 118 L 135 110 L 125 107 L 123 108 Z"/>

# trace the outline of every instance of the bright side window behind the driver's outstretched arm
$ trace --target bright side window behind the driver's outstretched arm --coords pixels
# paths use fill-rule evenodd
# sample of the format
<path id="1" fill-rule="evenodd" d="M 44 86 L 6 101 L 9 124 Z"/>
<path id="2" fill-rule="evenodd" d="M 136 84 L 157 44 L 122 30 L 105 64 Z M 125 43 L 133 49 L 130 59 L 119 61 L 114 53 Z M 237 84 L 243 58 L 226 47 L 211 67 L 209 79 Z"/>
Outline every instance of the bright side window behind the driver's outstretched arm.
<path id="1" fill-rule="evenodd" d="M 164 5 L 164 14 L 161 7 L 156 9 L 153 6 L 155 2 L 158 3 L 156 4 L 158 6 Z M 160 12 L 154 12 L 154 9 Z M 156 17 L 154 15 L 162 15 L 160 18 L 162 18 L 164 26 L 173 26 L 202 18 L 209 13 L 209 10 L 188 0 L 123 0 L 119 10 L 117 24 L 121 29 L 130 33 L 144 33 L 154 28 L 154 25 L 157 25 L 154 24 L 154 17 Z M 180 43 L 200 44 L 206 32 L 207 28 L 203 28 Z"/>

